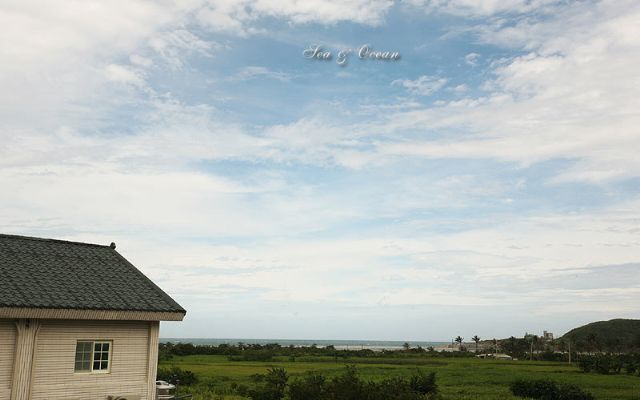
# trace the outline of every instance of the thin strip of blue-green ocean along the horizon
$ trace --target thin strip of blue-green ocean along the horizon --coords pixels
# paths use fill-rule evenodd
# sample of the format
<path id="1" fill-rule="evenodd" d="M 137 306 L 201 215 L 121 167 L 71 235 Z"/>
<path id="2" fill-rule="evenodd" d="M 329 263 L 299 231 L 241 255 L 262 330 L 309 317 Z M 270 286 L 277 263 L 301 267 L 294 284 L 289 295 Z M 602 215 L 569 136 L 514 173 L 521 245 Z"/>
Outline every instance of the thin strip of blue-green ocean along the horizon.
<path id="1" fill-rule="evenodd" d="M 443 347 L 450 342 L 422 342 L 422 341 L 404 341 L 404 340 L 307 340 L 307 339 L 239 339 L 239 338 L 228 338 L 228 339 L 215 339 L 215 338 L 160 338 L 160 342 L 172 342 L 172 343 L 192 343 L 192 344 L 209 344 L 209 345 L 220 345 L 220 344 L 269 344 L 269 343 L 277 343 L 280 346 L 288 347 L 288 346 L 311 346 L 316 345 L 318 347 L 326 347 L 326 346 L 334 346 L 338 350 L 361 350 L 361 349 L 370 349 L 370 350 L 398 350 L 402 349 L 402 345 L 406 342 L 409 343 L 411 347 L 421 346 L 422 348 L 427 348 L 429 346 L 433 347 Z"/>

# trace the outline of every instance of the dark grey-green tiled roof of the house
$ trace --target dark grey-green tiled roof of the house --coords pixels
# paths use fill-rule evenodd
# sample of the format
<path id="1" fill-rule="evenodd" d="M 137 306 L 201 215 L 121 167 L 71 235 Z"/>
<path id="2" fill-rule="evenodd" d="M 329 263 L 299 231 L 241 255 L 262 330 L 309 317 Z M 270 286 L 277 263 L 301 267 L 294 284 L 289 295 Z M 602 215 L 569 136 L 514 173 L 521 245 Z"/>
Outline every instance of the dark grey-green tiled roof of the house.
<path id="1" fill-rule="evenodd" d="M 0 307 L 185 313 L 115 248 L 3 234 Z"/>

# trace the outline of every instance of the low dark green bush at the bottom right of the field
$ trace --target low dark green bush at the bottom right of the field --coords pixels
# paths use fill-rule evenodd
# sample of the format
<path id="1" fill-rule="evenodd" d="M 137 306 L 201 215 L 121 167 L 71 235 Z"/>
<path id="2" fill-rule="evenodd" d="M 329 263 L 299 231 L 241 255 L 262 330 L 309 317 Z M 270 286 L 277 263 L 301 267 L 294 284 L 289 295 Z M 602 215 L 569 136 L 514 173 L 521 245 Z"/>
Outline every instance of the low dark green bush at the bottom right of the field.
<path id="1" fill-rule="evenodd" d="M 526 380 L 511 382 L 511 393 L 514 396 L 539 400 L 594 400 L 594 397 L 576 385 L 558 385 L 550 379 Z"/>

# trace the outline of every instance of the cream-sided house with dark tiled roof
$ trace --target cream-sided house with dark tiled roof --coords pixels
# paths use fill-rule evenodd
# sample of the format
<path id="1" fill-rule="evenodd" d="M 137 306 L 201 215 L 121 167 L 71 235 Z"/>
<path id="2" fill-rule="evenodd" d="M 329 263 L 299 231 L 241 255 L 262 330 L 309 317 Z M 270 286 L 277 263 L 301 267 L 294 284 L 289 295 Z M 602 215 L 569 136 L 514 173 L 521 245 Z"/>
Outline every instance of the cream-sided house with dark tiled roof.
<path id="1" fill-rule="evenodd" d="M 115 248 L 0 235 L 0 399 L 154 400 L 186 311 Z"/>

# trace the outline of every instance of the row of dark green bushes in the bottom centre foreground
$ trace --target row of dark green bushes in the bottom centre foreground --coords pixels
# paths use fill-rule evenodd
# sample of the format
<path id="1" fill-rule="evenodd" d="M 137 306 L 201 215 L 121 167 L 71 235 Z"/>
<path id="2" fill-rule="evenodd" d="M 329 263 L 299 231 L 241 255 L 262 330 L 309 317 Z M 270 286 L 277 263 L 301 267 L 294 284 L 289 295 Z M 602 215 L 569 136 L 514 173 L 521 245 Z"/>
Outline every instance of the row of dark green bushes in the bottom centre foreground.
<path id="1" fill-rule="evenodd" d="M 425 400 L 435 399 L 438 392 L 435 373 L 420 370 L 408 378 L 372 382 L 362 380 L 355 366 L 332 378 L 308 372 L 292 380 L 283 368 L 271 368 L 252 379 L 253 387 L 236 387 L 239 395 L 252 400 Z"/>

